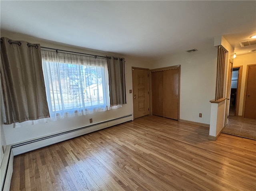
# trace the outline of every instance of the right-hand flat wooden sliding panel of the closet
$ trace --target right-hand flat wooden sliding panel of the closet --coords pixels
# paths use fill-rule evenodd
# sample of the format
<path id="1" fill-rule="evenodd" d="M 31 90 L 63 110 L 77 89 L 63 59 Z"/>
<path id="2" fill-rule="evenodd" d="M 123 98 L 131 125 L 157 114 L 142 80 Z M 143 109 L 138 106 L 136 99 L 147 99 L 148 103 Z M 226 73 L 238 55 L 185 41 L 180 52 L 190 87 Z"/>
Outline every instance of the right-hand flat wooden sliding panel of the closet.
<path id="1" fill-rule="evenodd" d="M 165 70 L 163 75 L 163 117 L 178 120 L 179 69 Z"/>

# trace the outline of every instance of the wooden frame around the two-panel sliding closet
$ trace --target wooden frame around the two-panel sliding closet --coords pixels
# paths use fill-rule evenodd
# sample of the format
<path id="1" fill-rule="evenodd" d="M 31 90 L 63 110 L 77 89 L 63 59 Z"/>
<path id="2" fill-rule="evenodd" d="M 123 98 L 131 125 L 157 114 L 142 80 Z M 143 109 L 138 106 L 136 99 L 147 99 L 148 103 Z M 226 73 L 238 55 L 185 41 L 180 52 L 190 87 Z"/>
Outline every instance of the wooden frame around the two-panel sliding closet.
<path id="1" fill-rule="evenodd" d="M 150 96 L 149 96 L 149 100 L 150 100 L 150 105 L 149 105 L 149 108 L 150 108 L 150 112 L 149 112 L 149 114 L 150 115 L 152 115 L 152 75 L 151 75 L 151 73 L 152 72 L 158 72 L 158 71 L 164 71 L 164 70 L 170 70 L 170 69 L 176 69 L 176 68 L 178 68 L 178 70 L 179 70 L 179 94 L 178 94 L 178 121 L 180 121 L 180 65 L 175 65 L 175 66 L 169 66 L 169 67 L 163 67 L 163 68 L 156 68 L 156 69 L 151 69 L 150 70 L 150 73 L 149 73 L 149 80 L 150 80 L 150 82 L 149 82 L 149 88 L 150 88 L 150 90 L 149 90 L 149 94 L 150 94 Z"/>

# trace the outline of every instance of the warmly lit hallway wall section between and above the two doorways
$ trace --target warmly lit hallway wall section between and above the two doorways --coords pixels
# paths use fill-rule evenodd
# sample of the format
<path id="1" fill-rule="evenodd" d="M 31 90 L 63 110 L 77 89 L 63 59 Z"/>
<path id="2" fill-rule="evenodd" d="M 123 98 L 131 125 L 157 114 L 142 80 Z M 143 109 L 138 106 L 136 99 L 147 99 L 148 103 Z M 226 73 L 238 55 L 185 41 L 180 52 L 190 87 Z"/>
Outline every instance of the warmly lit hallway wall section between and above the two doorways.
<path id="1" fill-rule="evenodd" d="M 238 55 L 238 56 L 236 56 L 236 58 L 233 61 L 234 68 L 236 66 L 243 66 L 239 109 L 238 109 L 239 116 L 242 116 L 242 113 L 243 113 L 244 86 L 245 86 L 245 81 L 246 81 L 247 65 L 249 65 L 249 64 L 256 64 L 256 53 L 250 53 L 250 54 L 246 54 L 246 55 Z"/>

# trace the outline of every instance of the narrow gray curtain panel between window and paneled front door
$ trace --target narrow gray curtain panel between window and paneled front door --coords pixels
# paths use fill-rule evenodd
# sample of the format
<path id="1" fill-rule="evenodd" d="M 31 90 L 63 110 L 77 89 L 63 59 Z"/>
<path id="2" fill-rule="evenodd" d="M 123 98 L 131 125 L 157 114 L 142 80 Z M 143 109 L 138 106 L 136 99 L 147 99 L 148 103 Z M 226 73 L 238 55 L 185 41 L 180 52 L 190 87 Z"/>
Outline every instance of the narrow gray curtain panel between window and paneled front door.
<path id="1" fill-rule="evenodd" d="M 107 57 L 110 106 L 126 104 L 124 58 Z"/>

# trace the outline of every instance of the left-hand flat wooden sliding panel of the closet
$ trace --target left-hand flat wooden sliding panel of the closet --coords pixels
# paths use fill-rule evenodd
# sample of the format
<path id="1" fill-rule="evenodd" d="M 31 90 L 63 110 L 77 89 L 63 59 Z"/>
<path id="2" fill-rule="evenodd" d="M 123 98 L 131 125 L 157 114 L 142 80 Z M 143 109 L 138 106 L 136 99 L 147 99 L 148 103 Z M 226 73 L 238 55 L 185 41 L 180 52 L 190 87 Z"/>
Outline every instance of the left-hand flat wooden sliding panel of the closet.
<path id="1" fill-rule="evenodd" d="M 164 71 L 152 72 L 152 114 L 163 116 L 163 75 Z"/>

